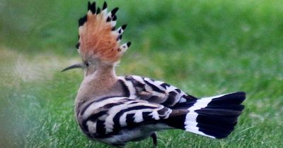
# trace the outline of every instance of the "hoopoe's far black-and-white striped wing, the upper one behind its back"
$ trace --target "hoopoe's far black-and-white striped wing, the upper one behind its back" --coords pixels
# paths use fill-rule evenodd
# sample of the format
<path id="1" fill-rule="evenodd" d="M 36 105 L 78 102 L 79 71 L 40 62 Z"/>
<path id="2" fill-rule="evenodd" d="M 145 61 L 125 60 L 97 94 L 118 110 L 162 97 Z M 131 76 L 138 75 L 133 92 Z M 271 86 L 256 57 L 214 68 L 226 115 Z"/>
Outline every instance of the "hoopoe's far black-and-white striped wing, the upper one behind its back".
<path id="1" fill-rule="evenodd" d="M 194 104 L 197 99 L 177 87 L 150 78 L 129 75 L 120 77 L 120 80 L 124 82 L 125 94 L 130 98 L 143 99 L 167 107 L 182 106 L 182 104 L 186 104 L 187 107 L 187 103 Z"/>

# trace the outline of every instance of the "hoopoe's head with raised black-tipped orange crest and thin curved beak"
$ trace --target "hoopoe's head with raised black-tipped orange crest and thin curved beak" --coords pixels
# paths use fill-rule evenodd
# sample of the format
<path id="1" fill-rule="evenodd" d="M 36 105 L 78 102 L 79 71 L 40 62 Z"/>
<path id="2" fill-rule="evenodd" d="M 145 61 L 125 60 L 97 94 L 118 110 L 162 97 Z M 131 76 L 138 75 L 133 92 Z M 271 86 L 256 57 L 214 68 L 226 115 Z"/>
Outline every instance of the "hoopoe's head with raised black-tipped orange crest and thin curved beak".
<path id="1" fill-rule="evenodd" d="M 88 3 L 88 13 L 79 19 L 79 43 L 76 45 L 82 63 L 74 64 L 62 71 L 83 68 L 86 75 L 94 73 L 98 68 L 115 66 L 131 45 L 131 42 L 120 45 L 122 32 L 127 25 L 115 30 L 118 8 L 108 13 L 107 4 L 102 11 L 96 3 Z"/>

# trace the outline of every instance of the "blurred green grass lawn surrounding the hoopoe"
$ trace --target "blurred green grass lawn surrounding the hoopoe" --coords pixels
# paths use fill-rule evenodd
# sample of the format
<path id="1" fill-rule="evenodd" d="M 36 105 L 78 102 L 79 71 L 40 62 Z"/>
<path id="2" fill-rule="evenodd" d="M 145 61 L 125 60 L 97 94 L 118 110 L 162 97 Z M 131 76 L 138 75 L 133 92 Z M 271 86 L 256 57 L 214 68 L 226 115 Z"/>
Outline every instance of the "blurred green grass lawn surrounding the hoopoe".
<path id="1" fill-rule="evenodd" d="M 103 1 L 98 1 L 102 5 Z M 82 71 L 77 20 L 86 1 L 0 1 L 0 147 L 108 147 L 74 120 Z M 283 147 L 283 1 L 108 1 L 132 47 L 117 73 L 164 80 L 196 97 L 242 90 L 246 110 L 225 140 L 179 130 L 158 147 Z M 151 147 L 151 140 L 127 147 Z"/>

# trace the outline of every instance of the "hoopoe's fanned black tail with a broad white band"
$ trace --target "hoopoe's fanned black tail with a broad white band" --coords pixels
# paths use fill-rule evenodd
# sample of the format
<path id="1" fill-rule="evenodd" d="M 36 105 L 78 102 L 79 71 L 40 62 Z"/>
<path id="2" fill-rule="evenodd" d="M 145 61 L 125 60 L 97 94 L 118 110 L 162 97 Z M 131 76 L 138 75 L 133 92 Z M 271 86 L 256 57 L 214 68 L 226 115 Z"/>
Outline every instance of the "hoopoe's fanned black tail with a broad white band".
<path id="1" fill-rule="evenodd" d="M 186 115 L 169 118 L 174 120 L 171 126 L 207 137 L 225 138 L 233 131 L 245 99 L 245 92 L 197 99 Z"/>

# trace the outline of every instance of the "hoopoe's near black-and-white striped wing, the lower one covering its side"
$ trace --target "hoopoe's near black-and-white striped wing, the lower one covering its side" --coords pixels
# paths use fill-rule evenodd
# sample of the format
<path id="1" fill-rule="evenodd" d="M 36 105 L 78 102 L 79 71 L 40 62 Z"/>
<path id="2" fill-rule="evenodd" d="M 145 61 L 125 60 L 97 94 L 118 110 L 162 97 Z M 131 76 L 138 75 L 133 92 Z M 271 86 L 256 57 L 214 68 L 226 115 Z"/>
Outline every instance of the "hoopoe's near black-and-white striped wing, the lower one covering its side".
<path id="1" fill-rule="evenodd" d="M 121 130 L 156 124 L 171 113 L 159 104 L 127 97 L 106 97 L 89 102 L 79 111 L 79 124 L 90 137 L 120 135 Z"/>

